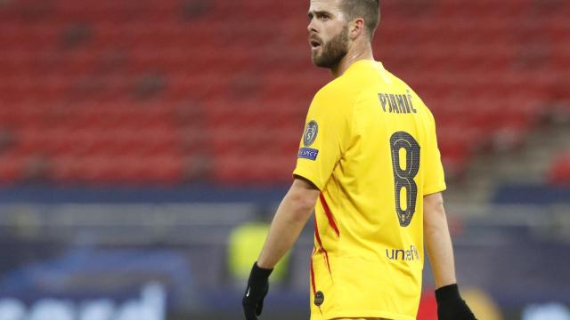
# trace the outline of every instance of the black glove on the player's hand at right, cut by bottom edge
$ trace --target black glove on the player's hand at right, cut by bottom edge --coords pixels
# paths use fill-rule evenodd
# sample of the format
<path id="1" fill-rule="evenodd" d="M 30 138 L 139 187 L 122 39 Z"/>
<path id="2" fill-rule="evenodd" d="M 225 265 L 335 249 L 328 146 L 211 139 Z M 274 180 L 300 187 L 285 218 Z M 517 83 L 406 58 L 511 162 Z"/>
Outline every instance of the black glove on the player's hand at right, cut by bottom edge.
<path id="1" fill-rule="evenodd" d="M 439 320 L 476 320 L 467 303 L 460 296 L 457 284 L 436 290 L 437 318 Z"/>

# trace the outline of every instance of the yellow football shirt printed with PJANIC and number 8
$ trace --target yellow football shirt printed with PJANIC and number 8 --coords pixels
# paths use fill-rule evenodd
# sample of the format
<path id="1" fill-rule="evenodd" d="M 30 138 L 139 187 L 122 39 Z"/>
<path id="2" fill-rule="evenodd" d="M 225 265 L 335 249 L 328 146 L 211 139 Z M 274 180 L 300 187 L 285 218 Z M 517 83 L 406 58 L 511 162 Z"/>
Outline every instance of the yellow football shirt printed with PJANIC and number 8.
<path id="1" fill-rule="evenodd" d="M 428 108 L 381 63 L 360 60 L 309 108 L 294 175 L 315 208 L 311 319 L 416 318 L 423 196 L 445 189 Z"/>

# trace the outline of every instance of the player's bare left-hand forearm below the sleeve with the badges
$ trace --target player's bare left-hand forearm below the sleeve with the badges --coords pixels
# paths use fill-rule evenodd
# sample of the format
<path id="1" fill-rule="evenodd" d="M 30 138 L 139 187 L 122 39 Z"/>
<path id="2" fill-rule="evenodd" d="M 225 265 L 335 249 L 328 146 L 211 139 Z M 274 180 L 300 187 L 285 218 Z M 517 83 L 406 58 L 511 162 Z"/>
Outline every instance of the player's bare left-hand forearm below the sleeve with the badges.
<path id="1" fill-rule="evenodd" d="M 289 190 L 275 213 L 257 266 L 273 268 L 295 244 L 313 210 L 314 204 L 307 204 Z"/>

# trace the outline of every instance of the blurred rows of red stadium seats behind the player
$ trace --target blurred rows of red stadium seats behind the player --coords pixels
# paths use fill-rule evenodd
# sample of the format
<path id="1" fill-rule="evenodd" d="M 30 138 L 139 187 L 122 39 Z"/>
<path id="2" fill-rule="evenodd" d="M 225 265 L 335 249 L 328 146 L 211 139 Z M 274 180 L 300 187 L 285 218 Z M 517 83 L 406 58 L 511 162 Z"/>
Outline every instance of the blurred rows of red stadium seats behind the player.
<path id="1" fill-rule="evenodd" d="M 328 80 L 310 65 L 305 11 L 253 0 L 0 4 L 0 182 L 289 180 L 305 110 Z M 570 99 L 568 2 L 407 0 L 383 11 L 378 58 L 433 109 L 449 176 L 570 105 L 559 103 Z"/>

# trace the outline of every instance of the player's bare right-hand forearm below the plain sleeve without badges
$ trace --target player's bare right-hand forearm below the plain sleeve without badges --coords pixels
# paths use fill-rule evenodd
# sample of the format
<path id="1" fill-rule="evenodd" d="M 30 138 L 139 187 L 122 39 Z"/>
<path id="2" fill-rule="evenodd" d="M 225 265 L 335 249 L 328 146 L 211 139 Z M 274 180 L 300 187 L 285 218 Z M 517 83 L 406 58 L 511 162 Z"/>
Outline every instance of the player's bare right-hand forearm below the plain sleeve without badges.
<path id="1" fill-rule="evenodd" d="M 457 280 L 452 237 L 447 226 L 443 199 L 439 194 L 427 196 L 424 205 L 424 238 L 436 288 L 455 284 Z"/>

